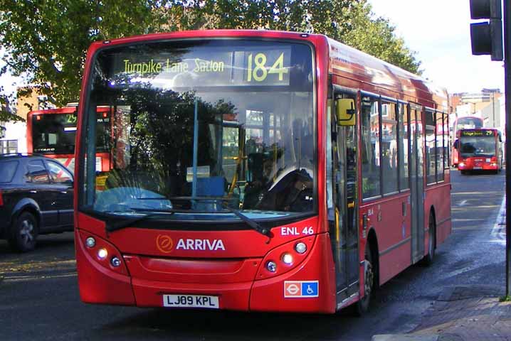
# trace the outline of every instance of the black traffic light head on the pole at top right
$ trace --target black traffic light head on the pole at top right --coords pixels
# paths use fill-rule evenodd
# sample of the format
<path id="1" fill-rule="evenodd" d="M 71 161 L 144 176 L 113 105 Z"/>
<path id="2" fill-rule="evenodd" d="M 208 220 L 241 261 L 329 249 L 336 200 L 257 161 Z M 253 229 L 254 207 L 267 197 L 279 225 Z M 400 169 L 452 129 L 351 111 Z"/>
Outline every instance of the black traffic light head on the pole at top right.
<path id="1" fill-rule="evenodd" d="M 488 19 L 470 24 L 472 54 L 491 55 L 492 60 L 503 60 L 500 0 L 470 0 L 470 18 Z"/>

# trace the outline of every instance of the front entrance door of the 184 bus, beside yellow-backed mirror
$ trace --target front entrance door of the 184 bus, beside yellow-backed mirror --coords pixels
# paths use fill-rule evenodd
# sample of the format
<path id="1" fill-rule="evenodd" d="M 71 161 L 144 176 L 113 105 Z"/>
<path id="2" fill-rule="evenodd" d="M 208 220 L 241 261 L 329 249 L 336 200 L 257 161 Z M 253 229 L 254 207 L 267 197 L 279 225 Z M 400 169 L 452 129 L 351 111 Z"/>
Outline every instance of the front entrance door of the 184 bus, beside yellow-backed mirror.
<path id="1" fill-rule="evenodd" d="M 330 238 L 334 254 L 337 304 L 359 293 L 359 238 L 357 228 L 357 129 L 341 125 L 336 106 L 339 99 L 351 99 L 353 114 L 357 103 L 355 93 L 334 92 L 330 110 L 330 148 L 327 176 Z M 351 104 L 349 104 L 351 105 Z M 354 123 L 354 121 L 353 121 Z M 332 193 L 332 194 L 330 194 Z"/>

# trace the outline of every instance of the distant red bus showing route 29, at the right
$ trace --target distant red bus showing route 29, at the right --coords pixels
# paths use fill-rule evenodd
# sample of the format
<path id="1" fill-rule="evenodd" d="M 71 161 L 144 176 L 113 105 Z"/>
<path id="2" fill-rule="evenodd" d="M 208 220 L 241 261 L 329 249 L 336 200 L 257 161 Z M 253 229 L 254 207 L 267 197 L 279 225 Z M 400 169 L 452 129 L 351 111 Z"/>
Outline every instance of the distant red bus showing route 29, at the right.
<path id="1" fill-rule="evenodd" d="M 462 174 L 471 171 L 502 170 L 502 136 L 498 129 L 461 129 L 455 148 L 460 154 L 458 169 Z"/>

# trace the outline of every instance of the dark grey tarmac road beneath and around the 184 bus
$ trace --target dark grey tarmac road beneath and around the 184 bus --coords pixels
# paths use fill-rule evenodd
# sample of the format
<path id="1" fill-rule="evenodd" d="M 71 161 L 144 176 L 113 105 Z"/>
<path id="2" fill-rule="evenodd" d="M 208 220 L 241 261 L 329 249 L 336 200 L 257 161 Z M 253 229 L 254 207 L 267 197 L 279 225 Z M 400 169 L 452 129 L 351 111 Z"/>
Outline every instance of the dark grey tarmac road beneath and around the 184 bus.
<path id="1" fill-rule="evenodd" d="M 454 229 L 435 264 L 411 266 L 382 286 L 364 318 L 347 311 L 282 315 L 86 305 L 78 296 L 73 234 L 65 233 L 41 237 L 30 254 L 14 254 L 0 241 L 0 339 L 370 340 L 413 330 L 450 286 L 480 283 L 504 291 L 505 239 L 495 227 L 504 173 L 452 175 Z"/>

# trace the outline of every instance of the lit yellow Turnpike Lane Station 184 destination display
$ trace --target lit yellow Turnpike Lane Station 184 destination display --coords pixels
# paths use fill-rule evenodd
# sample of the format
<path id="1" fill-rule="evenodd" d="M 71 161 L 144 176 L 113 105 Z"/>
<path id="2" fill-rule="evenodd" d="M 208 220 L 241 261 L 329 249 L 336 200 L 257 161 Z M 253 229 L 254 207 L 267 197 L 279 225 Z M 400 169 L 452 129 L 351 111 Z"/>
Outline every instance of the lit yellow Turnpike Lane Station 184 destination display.
<path id="1" fill-rule="evenodd" d="M 291 51 L 289 45 L 122 51 L 112 60 L 110 87 L 288 86 Z"/>

